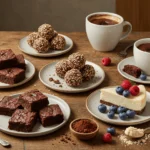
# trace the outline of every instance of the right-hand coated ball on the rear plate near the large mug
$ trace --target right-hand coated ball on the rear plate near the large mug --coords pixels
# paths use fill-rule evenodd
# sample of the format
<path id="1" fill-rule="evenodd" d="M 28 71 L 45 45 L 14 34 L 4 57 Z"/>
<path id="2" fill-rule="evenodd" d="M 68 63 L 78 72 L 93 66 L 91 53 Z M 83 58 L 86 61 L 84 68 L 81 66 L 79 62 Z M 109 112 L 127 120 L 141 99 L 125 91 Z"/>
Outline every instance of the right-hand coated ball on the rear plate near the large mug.
<path id="1" fill-rule="evenodd" d="M 57 35 L 50 41 L 50 48 L 55 50 L 63 50 L 66 45 L 66 40 L 63 36 Z"/>

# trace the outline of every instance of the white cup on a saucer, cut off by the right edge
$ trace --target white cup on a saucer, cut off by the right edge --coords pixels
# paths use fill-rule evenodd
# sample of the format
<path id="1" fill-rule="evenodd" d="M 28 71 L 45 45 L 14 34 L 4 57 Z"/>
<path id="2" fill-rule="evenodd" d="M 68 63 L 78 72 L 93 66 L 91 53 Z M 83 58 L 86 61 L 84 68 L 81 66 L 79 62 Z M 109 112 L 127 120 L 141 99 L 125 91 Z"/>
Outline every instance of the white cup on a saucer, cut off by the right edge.
<path id="1" fill-rule="evenodd" d="M 150 38 L 144 38 L 134 43 L 133 55 L 136 66 L 141 68 L 146 75 L 150 75 L 150 52 L 142 51 L 138 48 L 139 45 L 150 43 Z"/>

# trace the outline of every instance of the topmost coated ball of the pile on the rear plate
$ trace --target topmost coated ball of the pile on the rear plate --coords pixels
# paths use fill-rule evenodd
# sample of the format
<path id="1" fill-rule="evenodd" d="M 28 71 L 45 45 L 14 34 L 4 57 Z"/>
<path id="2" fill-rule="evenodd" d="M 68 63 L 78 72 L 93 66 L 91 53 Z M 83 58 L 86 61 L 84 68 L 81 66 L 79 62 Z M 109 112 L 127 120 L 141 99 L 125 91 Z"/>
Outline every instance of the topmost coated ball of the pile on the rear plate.
<path id="1" fill-rule="evenodd" d="M 38 28 L 41 37 L 50 40 L 54 36 L 54 29 L 50 24 L 42 24 Z"/>

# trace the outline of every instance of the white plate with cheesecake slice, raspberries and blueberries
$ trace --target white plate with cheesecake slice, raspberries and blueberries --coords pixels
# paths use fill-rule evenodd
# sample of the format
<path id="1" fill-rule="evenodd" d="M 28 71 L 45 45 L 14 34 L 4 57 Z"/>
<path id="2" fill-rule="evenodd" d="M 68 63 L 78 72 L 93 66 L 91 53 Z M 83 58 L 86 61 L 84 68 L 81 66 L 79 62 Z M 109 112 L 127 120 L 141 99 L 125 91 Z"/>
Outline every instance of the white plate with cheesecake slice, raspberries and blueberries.
<path id="1" fill-rule="evenodd" d="M 129 80 L 118 86 L 96 90 L 86 100 L 87 110 L 97 119 L 115 125 L 137 125 L 150 121 L 150 93 Z"/>

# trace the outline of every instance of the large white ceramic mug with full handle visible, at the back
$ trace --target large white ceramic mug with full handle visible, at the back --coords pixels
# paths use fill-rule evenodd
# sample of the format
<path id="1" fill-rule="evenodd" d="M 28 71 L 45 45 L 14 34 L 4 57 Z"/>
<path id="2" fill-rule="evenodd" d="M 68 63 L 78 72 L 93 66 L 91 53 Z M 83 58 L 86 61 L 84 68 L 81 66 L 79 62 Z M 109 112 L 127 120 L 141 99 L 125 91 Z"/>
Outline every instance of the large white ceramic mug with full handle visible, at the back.
<path id="1" fill-rule="evenodd" d="M 89 21 L 89 17 L 94 15 L 109 15 L 119 19 L 119 22 L 114 25 L 98 25 Z M 127 32 L 123 34 L 123 27 L 129 26 Z M 108 12 L 96 12 L 86 17 L 86 34 L 95 50 L 98 51 L 111 51 L 118 42 L 128 36 L 132 31 L 132 25 L 124 21 L 124 19 L 117 14 Z"/>

